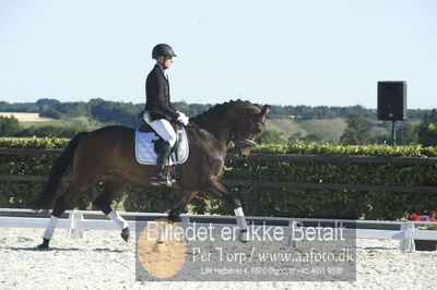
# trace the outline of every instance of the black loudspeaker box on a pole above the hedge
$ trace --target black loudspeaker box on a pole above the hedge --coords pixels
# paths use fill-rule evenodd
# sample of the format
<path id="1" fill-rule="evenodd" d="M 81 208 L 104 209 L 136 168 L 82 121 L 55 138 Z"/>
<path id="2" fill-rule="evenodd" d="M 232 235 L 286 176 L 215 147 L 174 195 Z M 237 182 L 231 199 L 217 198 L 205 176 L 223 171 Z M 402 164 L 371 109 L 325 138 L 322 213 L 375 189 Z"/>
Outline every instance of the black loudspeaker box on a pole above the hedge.
<path id="1" fill-rule="evenodd" d="M 406 82 L 378 82 L 378 120 L 406 120 Z"/>

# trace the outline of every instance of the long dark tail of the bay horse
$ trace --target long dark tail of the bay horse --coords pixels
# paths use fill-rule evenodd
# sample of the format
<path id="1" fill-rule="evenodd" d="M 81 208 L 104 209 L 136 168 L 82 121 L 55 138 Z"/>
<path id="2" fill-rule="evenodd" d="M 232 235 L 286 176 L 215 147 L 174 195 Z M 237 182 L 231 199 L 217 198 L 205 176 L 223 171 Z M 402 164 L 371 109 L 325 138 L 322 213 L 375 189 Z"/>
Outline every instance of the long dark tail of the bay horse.
<path id="1" fill-rule="evenodd" d="M 48 204 L 54 200 L 63 174 L 67 172 L 69 166 L 73 162 L 75 148 L 78 147 L 81 138 L 86 134 L 88 134 L 88 132 L 81 132 L 76 134 L 73 138 L 70 140 L 69 144 L 61 153 L 61 155 L 59 155 L 59 157 L 55 159 L 50 169 L 48 180 L 44 185 L 39 198 L 35 203 L 35 209 L 46 208 Z"/>

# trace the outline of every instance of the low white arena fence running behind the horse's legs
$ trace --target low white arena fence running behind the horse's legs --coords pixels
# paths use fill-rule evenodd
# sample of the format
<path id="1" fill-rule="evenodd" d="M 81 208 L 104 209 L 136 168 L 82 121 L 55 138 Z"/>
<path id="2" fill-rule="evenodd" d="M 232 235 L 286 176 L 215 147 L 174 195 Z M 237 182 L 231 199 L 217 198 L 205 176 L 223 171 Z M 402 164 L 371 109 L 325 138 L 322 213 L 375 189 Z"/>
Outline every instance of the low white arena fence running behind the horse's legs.
<path id="1" fill-rule="evenodd" d="M 156 213 L 122 213 L 119 214 L 128 221 L 131 229 L 137 229 L 137 222 L 154 221 L 158 218 L 166 218 L 167 214 Z M 0 208 L 0 227 L 16 228 L 46 228 L 50 212 L 36 213 L 33 209 Z M 246 216 L 249 225 L 267 225 L 282 227 L 285 237 L 288 237 L 287 244 L 296 246 L 291 239 L 295 222 L 302 222 L 305 232 L 308 227 L 332 227 L 342 225 L 344 238 L 351 239 L 385 239 L 399 240 L 399 250 L 411 252 L 414 250 L 414 240 L 437 241 L 437 230 L 418 230 L 417 225 L 436 225 L 433 221 L 386 221 L 386 220 L 351 220 L 351 219 L 319 219 L 319 218 L 283 218 L 283 217 L 255 217 Z M 214 226 L 214 233 L 223 227 L 236 226 L 236 218 L 233 216 L 208 216 L 208 215 L 181 215 L 181 227 L 188 227 L 196 222 L 198 226 Z M 354 225 L 354 228 L 347 227 Z M 67 210 L 59 219 L 57 228 L 67 229 L 68 238 L 82 238 L 84 230 L 120 230 L 118 226 L 108 219 L 102 212 L 94 210 Z M 250 229 L 250 227 L 249 227 Z"/>

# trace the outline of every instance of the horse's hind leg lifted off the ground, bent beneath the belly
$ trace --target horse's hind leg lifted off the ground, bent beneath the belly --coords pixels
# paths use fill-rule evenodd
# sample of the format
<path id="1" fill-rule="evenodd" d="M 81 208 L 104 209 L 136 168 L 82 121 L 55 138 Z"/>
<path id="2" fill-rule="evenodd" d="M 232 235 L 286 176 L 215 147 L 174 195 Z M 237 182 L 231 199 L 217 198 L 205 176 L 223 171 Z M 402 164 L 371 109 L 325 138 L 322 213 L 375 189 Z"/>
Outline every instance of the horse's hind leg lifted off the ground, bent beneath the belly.
<path id="1" fill-rule="evenodd" d="M 121 178 L 108 180 L 101 195 L 98 195 L 98 197 L 93 202 L 94 206 L 101 209 L 108 218 L 120 227 L 121 238 L 125 242 L 128 242 L 129 240 L 129 223 L 117 212 L 113 210 L 110 204 L 114 198 L 122 192 L 128 183 L 128 180 Z"/>

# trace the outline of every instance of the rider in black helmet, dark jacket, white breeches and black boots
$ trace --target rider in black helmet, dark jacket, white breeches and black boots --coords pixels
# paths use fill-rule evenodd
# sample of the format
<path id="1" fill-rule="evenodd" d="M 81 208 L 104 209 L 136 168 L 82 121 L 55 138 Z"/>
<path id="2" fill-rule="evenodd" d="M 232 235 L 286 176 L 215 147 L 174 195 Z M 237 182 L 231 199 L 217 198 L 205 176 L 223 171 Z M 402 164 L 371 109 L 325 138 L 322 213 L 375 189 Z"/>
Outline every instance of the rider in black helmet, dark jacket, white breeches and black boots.
<path id="1" fill-rule="evenodd" d="M 179 121 L 184 125 L 189 122 L 185 113 L 175 110 L 170 105 L 169 84 L 165 70 L 172 65 L 174 57 L 176 55 L 169 45 L 156 45 L 152 50 L 152 58 L 156 60 L 156 64 L 145 81 L 146 102 L 143 120 L 164 140 L 157 154 L 156 168 L 151 176 L 152 185 L 167 183 L 163 170 L 176 143 L 176 133 L 170 121 Z"/>

